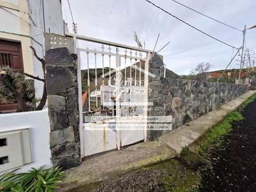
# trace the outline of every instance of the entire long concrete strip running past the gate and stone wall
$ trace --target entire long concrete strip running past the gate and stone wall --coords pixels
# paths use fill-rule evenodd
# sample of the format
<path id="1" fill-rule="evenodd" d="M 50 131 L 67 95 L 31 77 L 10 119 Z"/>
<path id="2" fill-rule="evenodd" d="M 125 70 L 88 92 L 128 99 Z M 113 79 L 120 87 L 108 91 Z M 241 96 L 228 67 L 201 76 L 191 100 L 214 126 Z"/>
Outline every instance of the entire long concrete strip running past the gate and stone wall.
<path id="1" fill-rule="evenodd" d="M 254 93 L 256 91 L 249 91 L 219 109 L 186 124 L 182 129 L 163 135 L 157 141 L 144 142 L 124 150 L 91 157 L 83 161 L 79 167 L 66 171 L 62 188 L 58 191 L 105 180 L 120 173 L 175 157 L 181 152 L 182 147 L 193 144 L 206 130 L 220 122 L 228 112 L 237 109 Z"/>

